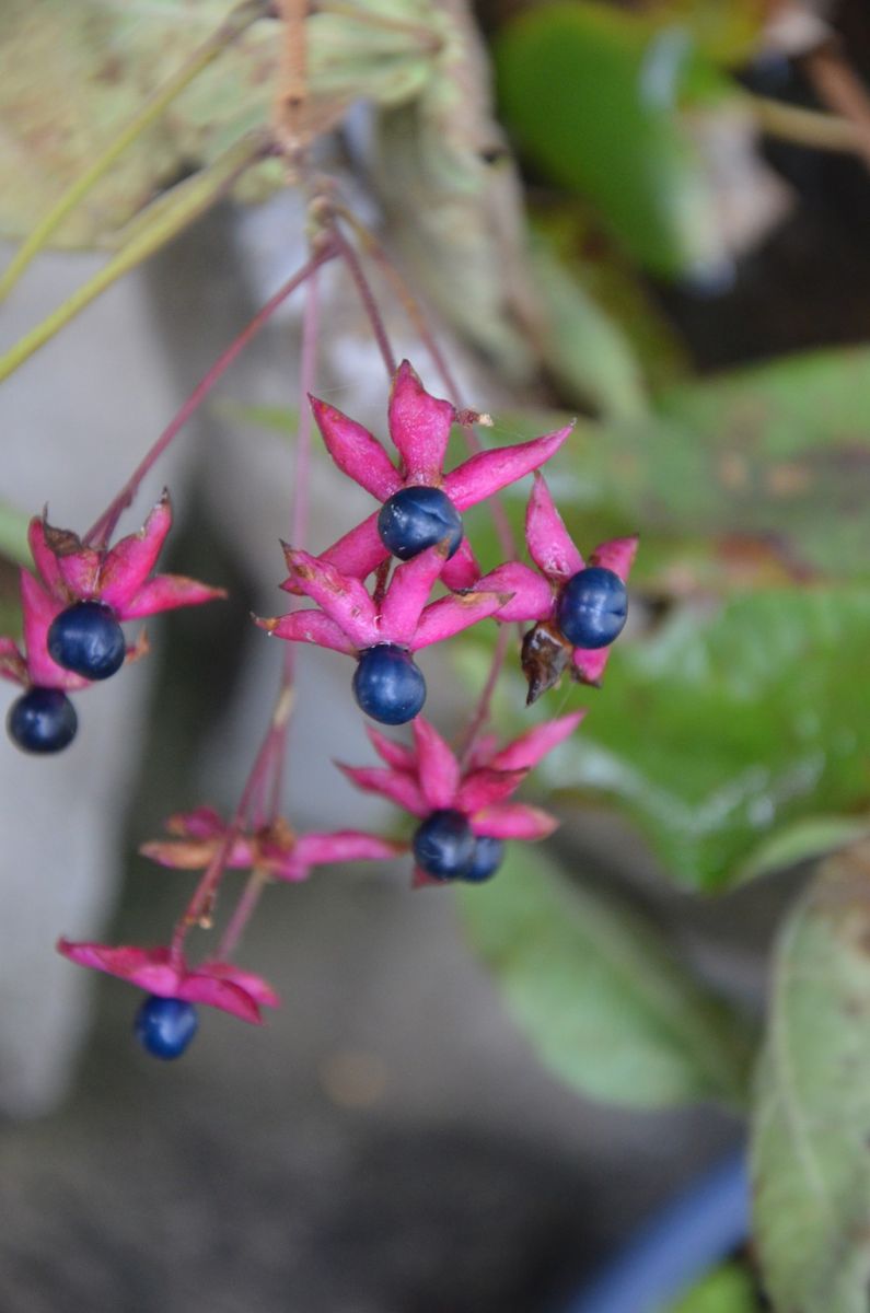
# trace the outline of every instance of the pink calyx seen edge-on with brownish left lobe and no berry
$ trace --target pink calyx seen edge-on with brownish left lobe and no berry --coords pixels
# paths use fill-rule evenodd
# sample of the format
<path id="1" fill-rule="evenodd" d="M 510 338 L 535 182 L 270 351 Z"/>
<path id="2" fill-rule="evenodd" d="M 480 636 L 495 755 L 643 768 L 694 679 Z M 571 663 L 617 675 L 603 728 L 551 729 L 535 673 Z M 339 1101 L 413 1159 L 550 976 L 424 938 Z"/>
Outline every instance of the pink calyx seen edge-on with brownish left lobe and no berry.
<path id="1" fill-rule="evenodd" d="M 197 807 L 170 817 L 171 839 L 142 844 L 139 852 L 163 867 L 198 871 L 208 867 L 227 846 L 230 826 L 213 807 Z M 343 861 L 386 861 L 405 852 L 405 844 L 392 843 L 363 830 L 336 830 L 332 834 L 297 835 L 284 819 L 252 832 L 231 835 L 223 857 L 229 869 L 262 871 L 272 880 L 308 880 L 313 867 Z"/>

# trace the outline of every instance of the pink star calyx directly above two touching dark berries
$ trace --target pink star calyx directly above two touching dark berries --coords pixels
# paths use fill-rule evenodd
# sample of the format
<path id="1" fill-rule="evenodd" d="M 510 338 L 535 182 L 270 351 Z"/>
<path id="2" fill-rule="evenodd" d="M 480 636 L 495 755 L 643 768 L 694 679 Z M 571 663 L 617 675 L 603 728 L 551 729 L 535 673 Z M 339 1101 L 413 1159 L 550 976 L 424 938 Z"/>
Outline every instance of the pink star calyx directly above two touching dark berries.
<path id="1" fill-rule="evenodd" d="M 405 747 L 368 729 L 385 767 L 340 765 L 354 784 L 380 793 L 411 815 L 424 819 L 434 811 L 455 810 L 467 817 L 472 832 L 492 839 L 545 839 L 559 822 L 540 807 L 510 802 L 530 769 L 580 725 L 585 712 L 545 721 L 497 750 L 480 743 L 463 769 L 438 730 L 422 716 L 413 722 L 414 747 Z M 340 763 L 339 763 L 340 764 Z M 414 871 L 414 885 L 438 884 Z"/>

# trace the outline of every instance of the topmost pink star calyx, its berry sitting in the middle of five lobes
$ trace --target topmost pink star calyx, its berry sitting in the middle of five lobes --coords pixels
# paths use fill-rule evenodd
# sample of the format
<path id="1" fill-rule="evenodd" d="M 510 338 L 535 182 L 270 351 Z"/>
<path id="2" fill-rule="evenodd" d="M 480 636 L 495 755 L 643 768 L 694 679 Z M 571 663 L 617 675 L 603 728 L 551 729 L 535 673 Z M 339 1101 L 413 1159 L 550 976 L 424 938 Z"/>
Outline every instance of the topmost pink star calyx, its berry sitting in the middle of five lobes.
<path id="1" fill-rule="evenodd" d="M 378 502 L 386 502 L 400 488 L 436 487 L 460 512 L 536 470 L 559 450 L 573 427 L 569 424 L 515 446 L 478 452 L 455 470 L 444 473 L 456 410 L 449 402 L 431 397 L 406 360 L 393 379 L 388 410 L 390 437 L 400 454 L 398 466 L 361 424 L 315 397 L 310 402 L 326 448 L 338 467 Z M 388 555 L 377 533 L 377 512 L 322 553 L 322 558 L 342 574 L 357 579 L 365 579 Z M 463 537 L 459 550 L 444 567 L 444 583 L 448 588 L 469 588 L 478 575 L 468 538 Z"/>

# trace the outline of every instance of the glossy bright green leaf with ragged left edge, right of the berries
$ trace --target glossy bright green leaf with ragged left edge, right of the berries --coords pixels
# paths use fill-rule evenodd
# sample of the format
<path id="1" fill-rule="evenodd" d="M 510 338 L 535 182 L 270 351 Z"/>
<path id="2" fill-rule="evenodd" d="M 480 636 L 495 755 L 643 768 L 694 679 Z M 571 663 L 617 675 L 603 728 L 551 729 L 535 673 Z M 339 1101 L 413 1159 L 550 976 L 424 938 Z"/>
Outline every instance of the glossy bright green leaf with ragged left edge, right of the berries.
<path id="1" fill-rule="evenodd" d="M 715 890 L 870 829 L 870 591 L 760 592 L 622 639 L 553 788 L 606 797 Z"/>

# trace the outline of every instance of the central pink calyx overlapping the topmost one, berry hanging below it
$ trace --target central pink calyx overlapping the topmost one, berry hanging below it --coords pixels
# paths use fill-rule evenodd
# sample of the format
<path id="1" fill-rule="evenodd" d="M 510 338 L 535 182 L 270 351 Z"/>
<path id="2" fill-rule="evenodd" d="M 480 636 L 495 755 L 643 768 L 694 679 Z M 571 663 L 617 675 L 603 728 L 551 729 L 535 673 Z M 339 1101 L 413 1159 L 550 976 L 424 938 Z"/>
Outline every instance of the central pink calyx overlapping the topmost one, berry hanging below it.
<path id="1" fill-rule="evenodd" d="M 294 611 L 288 616 L 258 620 L 258 624 L 277 638 L 318 643 L 348 655 L 359 655 L 382 643 L 418 651 L 452 638 L 509 601 L 505 590 L 474 590 L 439 597 L 426 605 L 444 569 L 447 549 L 443 544 L 427 548 L 413 561 L 397 566 L 380 605 L 357 578 L 342 574 L 322 557 L 288 546 L 284 553 L 290 576 L 281 587 L 304 593 L 319 609 Z"/>

